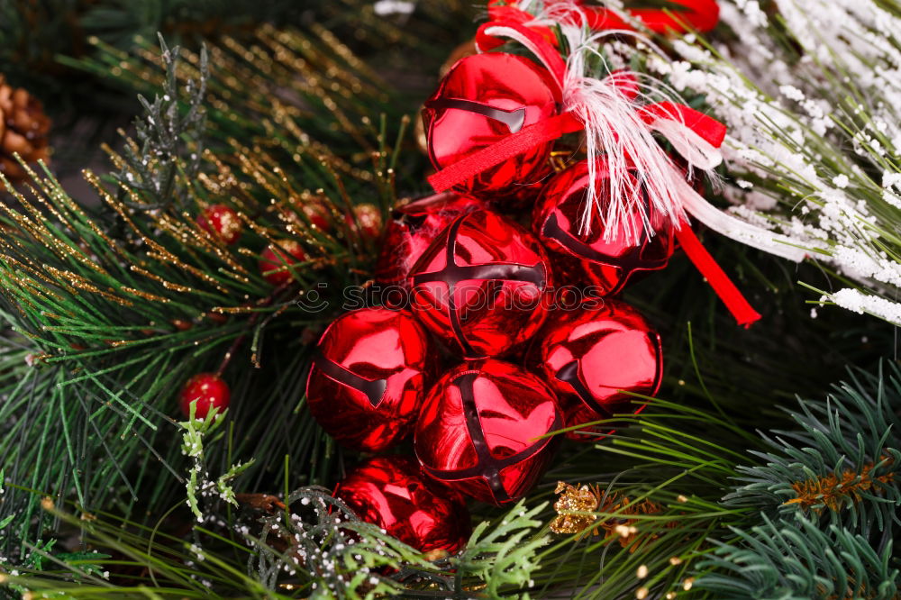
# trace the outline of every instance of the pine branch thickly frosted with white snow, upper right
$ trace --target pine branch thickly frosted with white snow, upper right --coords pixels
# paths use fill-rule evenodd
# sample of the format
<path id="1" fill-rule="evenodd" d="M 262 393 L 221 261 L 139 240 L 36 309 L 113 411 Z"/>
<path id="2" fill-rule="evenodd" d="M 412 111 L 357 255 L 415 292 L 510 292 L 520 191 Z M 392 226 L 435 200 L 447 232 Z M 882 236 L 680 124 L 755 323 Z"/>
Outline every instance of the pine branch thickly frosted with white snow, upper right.
<path id="1" fill-rule="evenodd" d="M 897 3 L 762 4 L 725 2 L 731 35 L 675 41 L 684 60 L 655 69 L 729 125 L 733 211 L 823 265 L 824 284 L 798 279 L 818 295 L 808 303 L 901 324 L 901 130 L 886 75 L 901 66 Z"/>

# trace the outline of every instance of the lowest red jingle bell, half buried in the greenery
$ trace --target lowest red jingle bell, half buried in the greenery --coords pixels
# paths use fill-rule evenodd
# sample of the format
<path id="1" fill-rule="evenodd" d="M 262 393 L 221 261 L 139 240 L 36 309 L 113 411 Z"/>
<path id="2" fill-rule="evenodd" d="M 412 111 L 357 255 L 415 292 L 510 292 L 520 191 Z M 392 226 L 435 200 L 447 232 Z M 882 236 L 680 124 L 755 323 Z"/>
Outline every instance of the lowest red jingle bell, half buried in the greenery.
<path id="1" fill-rule="evenodd" d="M 469 513 L 460 496 L 427 481 L 413 459 L 369 459 L 338 484 L 334 495 L 360 519 L 416 550 L 453 553 L 469 539 Z"/>

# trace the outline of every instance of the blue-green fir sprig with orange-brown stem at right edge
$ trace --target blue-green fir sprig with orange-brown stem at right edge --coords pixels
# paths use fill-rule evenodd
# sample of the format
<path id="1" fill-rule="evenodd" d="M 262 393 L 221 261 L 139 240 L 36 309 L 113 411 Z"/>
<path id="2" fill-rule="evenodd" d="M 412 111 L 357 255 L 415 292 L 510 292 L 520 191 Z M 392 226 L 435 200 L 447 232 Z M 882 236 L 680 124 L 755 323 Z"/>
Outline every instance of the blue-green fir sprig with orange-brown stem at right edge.
<path id="1" fill-rule="evenodd" d="M 822 514 L 866 539 L 880 534 L 885 546 L 901 523 L 901 369 L 883 368 L 852 372 L 825 401 L 799 400 L 791 411 L 799 429 L 764 436 L 772 450 L 754 454 L 765 464 L 740 467 L 745 483 L 725 504 Z"/>

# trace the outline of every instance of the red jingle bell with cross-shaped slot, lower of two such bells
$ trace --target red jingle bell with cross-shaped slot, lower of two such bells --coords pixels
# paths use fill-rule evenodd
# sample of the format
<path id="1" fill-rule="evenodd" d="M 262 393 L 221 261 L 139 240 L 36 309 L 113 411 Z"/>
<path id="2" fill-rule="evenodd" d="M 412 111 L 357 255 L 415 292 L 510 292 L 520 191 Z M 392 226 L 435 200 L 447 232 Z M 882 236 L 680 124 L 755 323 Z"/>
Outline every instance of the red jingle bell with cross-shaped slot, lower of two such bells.
<path id="1" fill-rule="evenodd" d="M 522 497 L 542 476 L 560 429 L 557 399 L 542 380 L 510 363 L 480 360 L 451 369 L 432 387 L 416 424 L 423 472 L 496 505 Z"/>

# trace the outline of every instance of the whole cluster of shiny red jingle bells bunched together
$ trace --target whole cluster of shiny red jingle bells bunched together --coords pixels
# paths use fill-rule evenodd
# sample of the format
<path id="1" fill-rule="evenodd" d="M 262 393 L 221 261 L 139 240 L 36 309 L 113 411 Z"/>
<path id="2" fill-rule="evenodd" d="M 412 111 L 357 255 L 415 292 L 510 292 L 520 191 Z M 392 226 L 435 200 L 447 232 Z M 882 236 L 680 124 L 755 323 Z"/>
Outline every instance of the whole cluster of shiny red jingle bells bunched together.
<path id="1" fill-rule="evenodd" d="M 556 102 L 530 59 L 461 59 L 423 111 L 432 162 L 444 168 L 538 123 Z M 555 174 L 550 153 L 549 142 L 456 193 L 397 207 L 377 268 L 390 307 L 343 314 L 319 341 L 306 397 L 323 429 L 364 452 L 414 439 L 415 460 L 369 459 L 335 495 L 419 550 L 465 544 L 464 496 L 505 505 L 525 495 L 553 456 L 560 436 L 549 434 L 596 441 L 610 428 L 588 423 L 633 411 L 628 393 L 660 386 L 660 337 L 614 296 L 666 265 L 672 226 L 651 233 L 636 217 L 640 241 L 611 241 L 597 218 L 580 234 L 587 163 Z M 566 286 L 592 293 L 572 305 Z"/>

